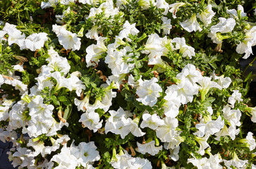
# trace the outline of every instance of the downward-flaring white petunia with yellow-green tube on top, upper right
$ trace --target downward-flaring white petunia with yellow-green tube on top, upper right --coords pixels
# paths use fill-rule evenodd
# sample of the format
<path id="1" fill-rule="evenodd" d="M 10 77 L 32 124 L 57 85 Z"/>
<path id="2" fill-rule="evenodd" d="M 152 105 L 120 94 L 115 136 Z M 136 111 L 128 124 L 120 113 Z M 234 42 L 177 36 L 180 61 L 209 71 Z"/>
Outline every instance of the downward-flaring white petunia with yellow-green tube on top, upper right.
<path id="1" fill-rule="evenodd" d="M 184 20 L 180 25 L 183 27 L 184 30 L 188 32 L 199 32 L 202 31 L 202 28 L 200 27 L 199 23 L 197 22 L 197 17 L 195 13 L 191 16 L 190 19 Z"/>

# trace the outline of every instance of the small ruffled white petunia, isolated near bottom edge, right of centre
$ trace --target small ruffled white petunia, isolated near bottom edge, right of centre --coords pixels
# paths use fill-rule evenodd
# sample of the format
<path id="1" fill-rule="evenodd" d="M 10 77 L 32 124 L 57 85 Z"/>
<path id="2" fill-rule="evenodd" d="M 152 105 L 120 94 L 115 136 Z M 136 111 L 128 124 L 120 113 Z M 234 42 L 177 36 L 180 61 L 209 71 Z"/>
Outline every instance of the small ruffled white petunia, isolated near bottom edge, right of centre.
<path id="1" fill-rule="evenodd" d="M 161 149 L 163 148 L 163 146 L 154 146 L 155 141 L 151 141 L 145 144 L 140 144 L 137 142 L 137 146 L 138 149 L 136 149 L 136 151 L 140 152 L 141 154 L 150 154 L 152 156 L 156 155 L 159 153 L 159 151 L 161 151 Z"/>

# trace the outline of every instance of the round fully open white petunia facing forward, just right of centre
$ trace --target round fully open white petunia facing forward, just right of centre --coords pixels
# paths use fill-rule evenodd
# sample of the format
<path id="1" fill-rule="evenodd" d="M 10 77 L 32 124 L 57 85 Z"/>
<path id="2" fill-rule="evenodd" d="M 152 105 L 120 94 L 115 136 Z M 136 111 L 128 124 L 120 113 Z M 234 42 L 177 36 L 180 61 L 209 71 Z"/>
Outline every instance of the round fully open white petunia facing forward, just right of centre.
<path id="1" fill-rule="evenodd" d="M 150 107 L 157 104 L 157 97 L 160 96 L 159 92 L 162 92 L 162 89 L 157 82 L 158 80 L 156 77 L 153 77 L 151 80 L 143 81 L 136 91 L 136 94 L 139 96 L 137 100 Z"/>

